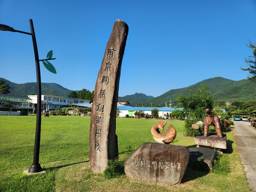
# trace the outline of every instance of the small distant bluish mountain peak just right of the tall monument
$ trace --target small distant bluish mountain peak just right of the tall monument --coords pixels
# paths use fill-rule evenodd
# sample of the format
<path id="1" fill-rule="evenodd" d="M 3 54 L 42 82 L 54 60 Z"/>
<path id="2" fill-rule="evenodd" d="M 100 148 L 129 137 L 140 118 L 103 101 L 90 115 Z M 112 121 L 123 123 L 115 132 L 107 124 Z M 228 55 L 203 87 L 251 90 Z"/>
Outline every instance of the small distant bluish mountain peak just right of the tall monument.
<path id="1" fill-rule="evenodd" d="M 130 105 L 136 105 L 137 103 L 140 103 L 140 105 L 142 105 L 143 102 L 151 99 L 154 99 L 154 97 L 147 96 L 144 93 L 135 93 L 133 95 L 118 97 L 119 101 L 129 101 Z"/>

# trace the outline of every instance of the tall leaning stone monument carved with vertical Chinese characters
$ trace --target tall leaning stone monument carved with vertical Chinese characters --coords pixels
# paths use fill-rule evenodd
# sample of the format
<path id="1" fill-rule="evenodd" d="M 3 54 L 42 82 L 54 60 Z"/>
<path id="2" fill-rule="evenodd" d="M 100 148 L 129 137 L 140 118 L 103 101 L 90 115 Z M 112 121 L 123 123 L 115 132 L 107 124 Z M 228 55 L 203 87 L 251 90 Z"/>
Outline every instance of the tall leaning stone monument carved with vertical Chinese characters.
<path id="1" fill-rule="evenodd" d="M 118 158 L 116 105 L 128 25 L 116 20 L 105 50 L 94 90 L 90 123 L 90 166 L 103 172 L 108 160 Z"/>

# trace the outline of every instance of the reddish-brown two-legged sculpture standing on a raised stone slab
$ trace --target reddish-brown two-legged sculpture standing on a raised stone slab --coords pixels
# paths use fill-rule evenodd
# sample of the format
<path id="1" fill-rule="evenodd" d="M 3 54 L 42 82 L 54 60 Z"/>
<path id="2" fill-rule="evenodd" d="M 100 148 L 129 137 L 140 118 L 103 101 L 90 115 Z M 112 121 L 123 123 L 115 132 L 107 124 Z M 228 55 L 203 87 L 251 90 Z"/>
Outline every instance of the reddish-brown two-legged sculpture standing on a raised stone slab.
<path id="1" fill-rule="evenodd" d="M 212 114 L 212 111 L 210 109 L 205 110 L 207 113 L 207 116 L 204 117 L 204 137 L 207 137 L 208 134 L 208 128 L 213 123 L 215 125 L 216 133 L 218 134 L 218 137 L 222 138 L 221 133 L 221 122 L 218 116 L 214 116 Z"/>

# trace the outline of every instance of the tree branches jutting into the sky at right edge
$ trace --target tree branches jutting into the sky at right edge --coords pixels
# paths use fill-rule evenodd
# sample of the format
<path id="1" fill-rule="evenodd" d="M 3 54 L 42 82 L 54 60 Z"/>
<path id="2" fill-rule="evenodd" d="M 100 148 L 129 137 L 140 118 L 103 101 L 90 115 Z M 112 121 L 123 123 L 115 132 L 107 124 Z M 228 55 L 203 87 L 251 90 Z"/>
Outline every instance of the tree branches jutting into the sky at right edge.
<path id="1" fill-rule="evenodd" d="M 253 49 L 253 56 L 248 56 L 248 58 L 244 58 L 244 61 L 247 63 L 246 68 L 241 68 L 241 70 L 248 71 L 249 75 L 247 79 L 250 81 L 256 81 L 256 43 L 255 45 L 252 44 L 252 42 L 249 40 L 249 44 L 247 44 L 247 47 L 250 47 Z"/>

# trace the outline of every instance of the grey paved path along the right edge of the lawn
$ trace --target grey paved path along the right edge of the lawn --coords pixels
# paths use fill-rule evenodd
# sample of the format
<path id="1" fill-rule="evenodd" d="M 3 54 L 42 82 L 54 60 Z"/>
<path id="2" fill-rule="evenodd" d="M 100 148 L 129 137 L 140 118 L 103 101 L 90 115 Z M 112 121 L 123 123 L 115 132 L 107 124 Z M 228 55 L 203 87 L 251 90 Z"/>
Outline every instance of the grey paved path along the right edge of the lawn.
<path id="1" fill-rule="evenodd" d="M 244 165 L 249 187 L 256 192 L 256 130 L 250 127 L 249 122 L 235 121 L 234 125 L 236 148 Z"/>

